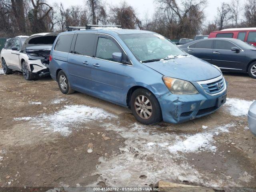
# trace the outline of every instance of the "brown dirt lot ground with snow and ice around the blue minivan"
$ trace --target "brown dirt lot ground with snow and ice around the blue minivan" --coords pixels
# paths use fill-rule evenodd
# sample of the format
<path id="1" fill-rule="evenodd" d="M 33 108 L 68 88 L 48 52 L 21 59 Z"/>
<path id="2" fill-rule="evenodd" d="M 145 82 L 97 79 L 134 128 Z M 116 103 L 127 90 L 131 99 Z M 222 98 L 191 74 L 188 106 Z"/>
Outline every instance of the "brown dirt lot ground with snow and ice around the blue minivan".
<path id="1" fill-rule="evenodd" d="M 256 99 L 256 80 L 224 76 L 228 98 Z M 256 187 L 256 136 L 247 126 L 247 117 L 233 116 L 226 105 L 183 124 L 145 126 L 129 109 L 62 94 L 50 77 L 0 75 L 0 191 L 159 180 L 226 191 Z"/>

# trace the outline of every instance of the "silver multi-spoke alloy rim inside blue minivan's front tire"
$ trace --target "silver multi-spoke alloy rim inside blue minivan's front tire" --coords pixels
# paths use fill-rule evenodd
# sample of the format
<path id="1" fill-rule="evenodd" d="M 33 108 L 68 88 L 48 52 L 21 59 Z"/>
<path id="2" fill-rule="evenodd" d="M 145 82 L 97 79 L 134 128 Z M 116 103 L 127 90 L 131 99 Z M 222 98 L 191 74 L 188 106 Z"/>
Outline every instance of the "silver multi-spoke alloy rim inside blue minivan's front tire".
<path id="1" fill-rule="evenodd" d="M 150 100 L 144 96 L 139 95 L 134 102 L 136 113 L 143 119 L 148 119 L 152 116 L 152 104 Z"/>

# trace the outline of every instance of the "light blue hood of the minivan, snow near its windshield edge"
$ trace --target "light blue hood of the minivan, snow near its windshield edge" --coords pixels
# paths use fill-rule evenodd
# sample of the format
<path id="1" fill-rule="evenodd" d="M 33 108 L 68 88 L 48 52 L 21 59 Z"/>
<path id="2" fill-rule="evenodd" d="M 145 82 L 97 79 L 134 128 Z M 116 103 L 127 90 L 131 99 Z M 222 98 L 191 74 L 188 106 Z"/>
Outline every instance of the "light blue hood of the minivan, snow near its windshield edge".
<path id="1" fill-rule="evenodd" d="M 164 76 L 186 81 L 204 81 L 222 74 L 212 64 L 191 55 L 143 64 Z"/>

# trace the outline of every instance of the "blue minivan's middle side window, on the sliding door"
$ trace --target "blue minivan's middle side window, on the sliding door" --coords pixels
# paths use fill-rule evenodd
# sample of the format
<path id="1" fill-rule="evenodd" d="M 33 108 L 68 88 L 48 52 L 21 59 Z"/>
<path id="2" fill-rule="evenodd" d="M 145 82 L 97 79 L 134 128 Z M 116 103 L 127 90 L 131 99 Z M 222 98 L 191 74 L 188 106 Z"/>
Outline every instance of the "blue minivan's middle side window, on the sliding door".
<path id="1" fill-rule="evenodd" d="M 96 34 L 78 34 L 74 54 L 92 57 L 95 38 Z"/>

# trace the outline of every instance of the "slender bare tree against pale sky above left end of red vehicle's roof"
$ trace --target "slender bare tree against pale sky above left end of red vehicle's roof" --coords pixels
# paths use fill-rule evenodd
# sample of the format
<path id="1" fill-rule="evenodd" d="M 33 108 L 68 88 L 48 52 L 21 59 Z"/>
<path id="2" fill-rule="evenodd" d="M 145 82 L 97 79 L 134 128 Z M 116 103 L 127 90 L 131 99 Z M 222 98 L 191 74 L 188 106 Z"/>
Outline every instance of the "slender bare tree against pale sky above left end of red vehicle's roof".
<path id="1" fill-rule="evenodd" d="M 224 27 L 224 23 L 229 19 L 229 13 L 231 12 L 230 5 L 227 3 L 222 3 L 220 7 L 217 9 L 217 19 L 219 30 L 222 30 Z"/>

